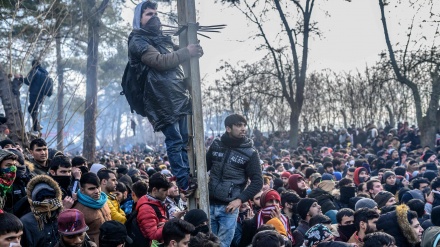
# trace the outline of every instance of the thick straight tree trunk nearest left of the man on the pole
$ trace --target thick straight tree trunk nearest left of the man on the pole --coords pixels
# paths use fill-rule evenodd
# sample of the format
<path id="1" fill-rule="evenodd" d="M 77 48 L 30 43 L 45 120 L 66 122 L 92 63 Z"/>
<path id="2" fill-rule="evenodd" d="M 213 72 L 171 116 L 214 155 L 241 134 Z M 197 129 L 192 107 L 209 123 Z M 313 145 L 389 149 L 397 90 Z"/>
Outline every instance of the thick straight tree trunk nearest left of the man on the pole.
<path id="1" fill-rule="evenodd" d="M 84 143 L 83 156 L 92 162 L 96 153 L 96 113 L 98 109 L 98 45 L 99 31 L 101 29 L 101 17 L 109 0 L 103 0 L 96 7 L 95 0 L 87 0 L 88 41 L 87 41 L 87 79 L 86 79 L 86 103 L 84 111 Z"/>

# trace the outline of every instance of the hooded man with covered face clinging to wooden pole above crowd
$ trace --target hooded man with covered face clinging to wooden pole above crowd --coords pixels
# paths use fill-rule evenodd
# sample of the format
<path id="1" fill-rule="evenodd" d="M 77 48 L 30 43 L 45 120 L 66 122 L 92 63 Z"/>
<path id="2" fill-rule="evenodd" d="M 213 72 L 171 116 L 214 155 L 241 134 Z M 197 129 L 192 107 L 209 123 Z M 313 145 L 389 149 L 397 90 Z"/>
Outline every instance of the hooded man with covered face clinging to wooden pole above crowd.
<path id="1" fill-rule="evenodd" d="M 139 78 L 143 91 L 143 110 L 155 131 L 165 135 L 167 155 L 177 185 L 184 194 L 196 189 L 190 180 L 188 155 L 187 115 L 191 114 L 191 95 L 183 81 L 181 63 L 192 57 L 200 57 L 200 45 L 190 44 L 172 51 L 170 36 L 164 36 L 157 17 L 157 4 L 145 1 L 135 8 L 133 31 L 128 38 L 131 77 Z"/>

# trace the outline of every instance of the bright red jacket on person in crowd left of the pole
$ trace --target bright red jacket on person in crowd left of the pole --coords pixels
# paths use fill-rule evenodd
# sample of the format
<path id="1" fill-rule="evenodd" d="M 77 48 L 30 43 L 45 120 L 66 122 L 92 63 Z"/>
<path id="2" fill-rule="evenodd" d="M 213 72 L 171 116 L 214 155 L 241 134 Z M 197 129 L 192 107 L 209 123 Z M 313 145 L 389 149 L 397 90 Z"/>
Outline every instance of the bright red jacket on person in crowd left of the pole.
<path id="1" fill-rule="evenodd" d="M 156 212 L 150 205 L 155 205 L 159 209 L 162 217 L 157 217 Z M 163 225 L 158 227 L 161 222 L 166 222 L 166 211 L 160 201 L 145 195 L 136 203 L 136 211 L 138 211 L 137 221 L 139 229 L 145 238 L 163 242 L 162 229 Z"/>

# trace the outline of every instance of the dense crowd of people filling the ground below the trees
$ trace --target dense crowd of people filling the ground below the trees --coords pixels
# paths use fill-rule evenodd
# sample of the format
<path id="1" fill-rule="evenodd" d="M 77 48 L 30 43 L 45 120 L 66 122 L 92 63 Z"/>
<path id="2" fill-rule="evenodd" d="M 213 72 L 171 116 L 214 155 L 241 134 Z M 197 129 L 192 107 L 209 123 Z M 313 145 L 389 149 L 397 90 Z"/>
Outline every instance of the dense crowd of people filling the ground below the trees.
<path id="1" fill-rule="evenodd" d="M 440 148 L 420 147 L 406 123 L 365 139 L 315 129 L 295 149 L 283 135 L 248 137 L 238 114 L 225 128 L 206 153 L 209 212 L 187 208 L 166 154 L 89 164 L 40 138 L 29 152 L 1 141 L 0 246 L 439 243 Z"/>

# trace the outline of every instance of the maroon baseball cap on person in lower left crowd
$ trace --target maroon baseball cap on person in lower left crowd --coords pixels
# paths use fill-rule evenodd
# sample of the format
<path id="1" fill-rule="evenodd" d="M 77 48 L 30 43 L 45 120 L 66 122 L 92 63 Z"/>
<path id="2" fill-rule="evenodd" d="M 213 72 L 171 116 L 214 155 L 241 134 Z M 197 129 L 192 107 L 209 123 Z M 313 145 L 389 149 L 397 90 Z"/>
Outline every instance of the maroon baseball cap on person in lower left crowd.
<path id="1" fill-rule="evenodd" d="M 58 216 L 58 232 L 61 235 L 75 235 L 89 230 L 84 214 L 77 209 L 67 209 Z"/>

